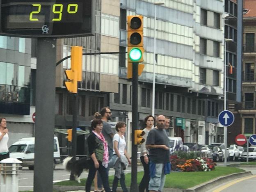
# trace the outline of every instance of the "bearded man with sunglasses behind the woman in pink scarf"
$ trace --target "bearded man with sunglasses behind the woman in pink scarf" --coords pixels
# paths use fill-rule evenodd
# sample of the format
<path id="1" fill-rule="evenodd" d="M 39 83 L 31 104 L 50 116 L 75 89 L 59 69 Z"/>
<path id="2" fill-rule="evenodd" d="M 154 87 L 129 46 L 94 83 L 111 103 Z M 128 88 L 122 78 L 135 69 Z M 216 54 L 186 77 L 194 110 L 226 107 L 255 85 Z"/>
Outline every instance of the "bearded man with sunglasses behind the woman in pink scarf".
<path id="1" fill-rule="evenodd" d="M 109 107 L 103 107 L 100 111 L 101 114 L 101 120 L 103 122 L 103 129 L 102 129 L 102 134 L 105 137 L 105 140 L 107 141 L 107 148 L 108 148 L 108 156 L 109 156 L 109 160 L 112 158 L 113 156 L 113 137 L 114 137 L 114 132 L 110 126 L 110 124 L 108 124 L 108 121 L 111 121 L 111 110 L 109 109 Z M 108 171 L 109 168 L 107 168 L 107 175 L 108 175 Z M 97 180 L 98 180 L 98 189 L 99 191 L 101 191 L 101 187 L 102 187 L 102 181 L 101 178 L 99 176 L 99 174 L 97 174 Z"/>

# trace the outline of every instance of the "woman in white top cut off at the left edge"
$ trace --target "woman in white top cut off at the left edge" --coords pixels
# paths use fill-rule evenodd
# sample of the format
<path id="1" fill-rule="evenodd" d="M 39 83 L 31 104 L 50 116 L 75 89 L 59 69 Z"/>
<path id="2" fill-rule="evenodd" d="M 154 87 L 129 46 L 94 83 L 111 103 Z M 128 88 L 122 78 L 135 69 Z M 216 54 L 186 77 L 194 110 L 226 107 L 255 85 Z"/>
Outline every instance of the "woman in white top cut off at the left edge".
<path id="1" fill-rule="evenodd" d="M 6 119 L 4 117 L 0 118 L 0 161 L 9 158 L 8 150 L 8 129 L 6 128 Z"/>

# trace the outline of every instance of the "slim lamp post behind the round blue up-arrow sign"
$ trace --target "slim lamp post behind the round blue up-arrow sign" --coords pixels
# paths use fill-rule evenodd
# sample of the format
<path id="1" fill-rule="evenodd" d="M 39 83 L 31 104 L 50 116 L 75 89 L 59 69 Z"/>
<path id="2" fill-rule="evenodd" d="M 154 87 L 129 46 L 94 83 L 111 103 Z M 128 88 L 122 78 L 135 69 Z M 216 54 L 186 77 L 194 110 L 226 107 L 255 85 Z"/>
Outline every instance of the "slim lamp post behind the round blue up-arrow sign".
<path id="1" fill-rule="evenodd" d="M 224 39 L 224 111 L 226 110 L 226 42 L 233 41 L 233 39 Z M 224 167 L 226 167 L 227 162 L 227 127 L 224 126 L 224 146 L 225 146 L 225 155 L 224 155 Z"/>

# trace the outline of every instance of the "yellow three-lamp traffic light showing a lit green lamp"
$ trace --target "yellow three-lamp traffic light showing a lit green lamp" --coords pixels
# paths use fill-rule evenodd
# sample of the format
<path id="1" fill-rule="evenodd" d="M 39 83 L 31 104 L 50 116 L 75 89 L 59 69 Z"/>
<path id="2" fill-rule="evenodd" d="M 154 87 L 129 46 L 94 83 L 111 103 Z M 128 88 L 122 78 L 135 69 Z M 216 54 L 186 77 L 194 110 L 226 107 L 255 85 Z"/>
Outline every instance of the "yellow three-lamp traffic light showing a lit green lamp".
<path id="1" fill-rule="evenodd" d="M 127 16 L 128 62 L 143 62 L 143 16 Z"/>

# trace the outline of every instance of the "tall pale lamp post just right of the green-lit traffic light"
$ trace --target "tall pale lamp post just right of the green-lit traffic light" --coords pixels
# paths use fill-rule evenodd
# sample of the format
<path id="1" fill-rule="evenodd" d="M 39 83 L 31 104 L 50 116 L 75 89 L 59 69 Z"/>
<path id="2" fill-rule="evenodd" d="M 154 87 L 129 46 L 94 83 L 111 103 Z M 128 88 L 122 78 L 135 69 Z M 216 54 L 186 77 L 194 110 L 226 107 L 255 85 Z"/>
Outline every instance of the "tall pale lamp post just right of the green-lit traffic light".
<path id="1" fill-rule="evenodd" d="M 156 6 L 165 5 L 165 2 L 156 2 L 155 5 L 155 19 L 154 19 L 154 62 L 153 62 L 153 90 L 152 90 L 152 116 L 155 116 L 155 32 L 156 32 Z"/>

